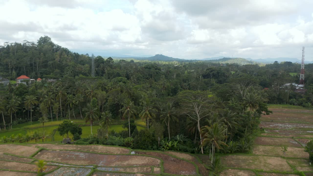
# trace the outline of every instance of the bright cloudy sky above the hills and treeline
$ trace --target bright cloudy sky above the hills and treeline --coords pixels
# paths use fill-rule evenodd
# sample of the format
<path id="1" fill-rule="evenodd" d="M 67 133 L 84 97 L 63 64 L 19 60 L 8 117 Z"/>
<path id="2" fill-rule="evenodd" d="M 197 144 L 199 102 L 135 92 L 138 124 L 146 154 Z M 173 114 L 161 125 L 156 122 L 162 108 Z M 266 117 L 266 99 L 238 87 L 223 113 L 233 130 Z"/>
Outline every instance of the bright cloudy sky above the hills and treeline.
<path id="1" fill-rule="evenodd" d="M 81 54 L 313 60 L 312 0 L 0 0 L 0 45 L 40 36 Z"/>

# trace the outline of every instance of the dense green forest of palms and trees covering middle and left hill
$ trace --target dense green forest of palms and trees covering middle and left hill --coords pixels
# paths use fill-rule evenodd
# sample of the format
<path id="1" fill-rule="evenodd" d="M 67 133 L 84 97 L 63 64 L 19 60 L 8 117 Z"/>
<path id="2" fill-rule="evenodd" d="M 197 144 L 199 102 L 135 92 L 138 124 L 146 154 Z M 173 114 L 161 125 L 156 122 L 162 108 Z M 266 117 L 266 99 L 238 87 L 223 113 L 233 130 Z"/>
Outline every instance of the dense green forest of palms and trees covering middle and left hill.
<path id="1" fill-rule="evenodd" d="M 5 43 L 0 63 L 0 75 L 9 80 L 20 75 L 43 79 L 1 85 L 1 129 L 48 118 L 100 124 L 96 136 L 79 139 L 78 144 L 246 152 L 259 117 L 270 113 L 267 103 L 305 107 L 313 103 L 313 64 L 305 65 L 307 91 L 301 95 L 291 87 L 281 88 L 299 82 L 299 74 L 290 73 L 300 73 L 300 65 L 291 62 L 259 66 L 97 56 L 95 77 L 91 77 L 89 54 L 73 53 L 48 36 L 37 43 Z M 147 130 L 138 132 L 133 119 L 140 118 Z M 125 123 L 127 130 L 109 132 L 113 122 Z"/>

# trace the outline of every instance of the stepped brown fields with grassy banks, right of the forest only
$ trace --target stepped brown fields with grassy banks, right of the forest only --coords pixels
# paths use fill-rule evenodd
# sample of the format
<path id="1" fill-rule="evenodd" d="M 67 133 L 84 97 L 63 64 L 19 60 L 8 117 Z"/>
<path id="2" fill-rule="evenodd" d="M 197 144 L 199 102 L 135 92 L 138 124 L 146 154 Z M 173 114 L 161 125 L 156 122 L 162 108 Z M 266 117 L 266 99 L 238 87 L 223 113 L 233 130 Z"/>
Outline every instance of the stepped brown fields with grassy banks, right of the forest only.
<path id="1" fill-rule="evenodd" d="M 313 110 L 270 110 L 273 114 L 260 119 L 264 133 L 255 138 L 252 154 L 221 156 L 227 167 L 223 176 L 296 176 L 300 171 L 313 176 L 309 155 L 304 152 L 306 143 L 313 140 Z"/>

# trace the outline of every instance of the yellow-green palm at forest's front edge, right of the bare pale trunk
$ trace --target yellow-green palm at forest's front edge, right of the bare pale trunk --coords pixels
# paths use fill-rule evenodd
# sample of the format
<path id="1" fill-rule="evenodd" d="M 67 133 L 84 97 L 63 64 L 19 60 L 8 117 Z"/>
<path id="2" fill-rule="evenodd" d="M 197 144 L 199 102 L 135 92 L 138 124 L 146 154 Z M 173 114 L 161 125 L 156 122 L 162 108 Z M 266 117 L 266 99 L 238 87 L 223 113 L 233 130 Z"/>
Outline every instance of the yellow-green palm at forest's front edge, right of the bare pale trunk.
<path id="1" fill-rule="evenodd" d="M 213 125 L 204 126 L 201 128 L 201 133 L 203 137 L 202 145 L 212 145 L 212 158 L 211 163 L 213 163 L 215 148 L 220 149 L 221 145 L 226 145 L 223 140 L 226 138 L 224 135 L 226 129 L 223 129 L 223 126 L 217 122 Z"/>

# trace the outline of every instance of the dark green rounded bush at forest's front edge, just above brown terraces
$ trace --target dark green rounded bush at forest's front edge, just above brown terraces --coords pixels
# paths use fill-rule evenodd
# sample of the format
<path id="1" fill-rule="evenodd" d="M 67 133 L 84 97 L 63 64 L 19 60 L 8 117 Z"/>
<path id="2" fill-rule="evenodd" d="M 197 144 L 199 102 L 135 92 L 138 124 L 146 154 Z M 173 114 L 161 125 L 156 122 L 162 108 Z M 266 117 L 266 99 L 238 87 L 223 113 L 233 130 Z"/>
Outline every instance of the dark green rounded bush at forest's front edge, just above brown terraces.
<path id="1" fill-rule="evenodd" d="M 134 140 L 133 148 L 137 149 L 151 149 L 153 146 L 153 140 L 152 134 L 147 130 L 140 130 L 137 137 Z"/>

